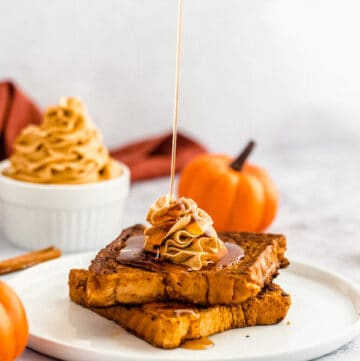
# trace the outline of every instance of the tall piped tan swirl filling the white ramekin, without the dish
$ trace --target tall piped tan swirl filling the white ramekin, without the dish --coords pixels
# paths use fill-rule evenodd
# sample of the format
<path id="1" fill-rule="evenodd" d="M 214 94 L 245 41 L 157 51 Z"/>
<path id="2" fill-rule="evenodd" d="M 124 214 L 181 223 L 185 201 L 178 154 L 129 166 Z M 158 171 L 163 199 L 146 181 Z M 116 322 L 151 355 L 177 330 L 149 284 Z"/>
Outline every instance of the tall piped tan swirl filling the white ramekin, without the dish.
<path id="1" fill-rule="evenodd" d="M 76 98 L 61 99 L 46 110 L 39 126 L 26 127 L 16 139 L 10 162 L 5 175 L 32 183 L 84 184 L 121 174 Z"/>

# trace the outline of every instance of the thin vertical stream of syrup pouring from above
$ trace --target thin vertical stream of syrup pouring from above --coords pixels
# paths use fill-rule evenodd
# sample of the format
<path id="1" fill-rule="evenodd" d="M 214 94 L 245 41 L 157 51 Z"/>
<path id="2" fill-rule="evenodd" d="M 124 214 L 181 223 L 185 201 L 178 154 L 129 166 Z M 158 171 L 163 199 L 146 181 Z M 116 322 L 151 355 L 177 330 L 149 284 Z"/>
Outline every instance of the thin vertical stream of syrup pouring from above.
<path id="1" fill-rule="evenodd" d="M 182 13 L 183 1 L 178 0 L 178 21 L 177 21 L 177 46 L 176 46 L 176 66 L 175 66 L 175 94 L 174 94 L 174 114 L 173 114 L 173 135 L 171 148 L 171 171 L 170 171 L 170 199 L 174 198 L 174 177 L 176 166 L 176 140 L 179 117 L 179 84 L 180 84 L 180 60 L 181 60 L 181 40 L 182 40 Z"/>

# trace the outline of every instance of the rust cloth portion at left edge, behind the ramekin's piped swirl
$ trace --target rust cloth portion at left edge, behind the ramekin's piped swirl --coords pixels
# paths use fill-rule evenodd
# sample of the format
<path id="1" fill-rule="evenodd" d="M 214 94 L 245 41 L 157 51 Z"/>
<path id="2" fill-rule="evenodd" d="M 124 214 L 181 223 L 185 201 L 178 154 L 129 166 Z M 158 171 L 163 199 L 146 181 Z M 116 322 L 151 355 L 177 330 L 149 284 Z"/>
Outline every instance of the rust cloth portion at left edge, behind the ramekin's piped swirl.
<path id="1" fill-rule="evenodd" d="M 40 122 L 39 108 L 12 82 L 0 82 L 0 159 L 8 157 L 21 129 Z"/>

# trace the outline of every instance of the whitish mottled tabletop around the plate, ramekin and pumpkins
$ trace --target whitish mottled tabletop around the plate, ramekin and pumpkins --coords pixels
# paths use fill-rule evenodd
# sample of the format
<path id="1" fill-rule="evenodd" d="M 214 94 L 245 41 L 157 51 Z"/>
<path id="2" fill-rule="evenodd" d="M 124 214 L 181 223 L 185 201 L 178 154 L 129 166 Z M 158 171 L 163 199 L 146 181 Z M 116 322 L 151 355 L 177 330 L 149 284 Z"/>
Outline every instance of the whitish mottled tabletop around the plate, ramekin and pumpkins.
<path id="1" fill-rule="evenodd" d="M 287 235 L 290 260 L 335 270 L 360 284 L 359 148 L 343 144 L 291 152 L 274 149 L 257 161 L 270 170 L 281 191 L 280 212 L 270 231 Z M 135 184 L 124 225 L 143 221 L 151 202 L 167 189 L 168 179 Z M 22 252 L 3 238 L 1 259 Z M 321 361 L 359 359 L 360 338 Z M 19 360 L 51 359 L 27 349 Z"/>

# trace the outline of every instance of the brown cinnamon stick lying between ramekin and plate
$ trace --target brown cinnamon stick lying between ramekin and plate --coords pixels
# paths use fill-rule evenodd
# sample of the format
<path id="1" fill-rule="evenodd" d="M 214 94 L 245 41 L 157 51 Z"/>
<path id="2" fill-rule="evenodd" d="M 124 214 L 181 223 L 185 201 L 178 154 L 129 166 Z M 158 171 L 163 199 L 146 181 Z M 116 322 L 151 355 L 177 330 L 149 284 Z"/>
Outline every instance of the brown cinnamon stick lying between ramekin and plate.
<path id="1" fill-rule="evenodd" d="M 0 275 L 19 271 L 61 256 L 61 251 L 48 247 L 0 261 Z"/>

